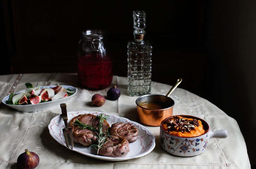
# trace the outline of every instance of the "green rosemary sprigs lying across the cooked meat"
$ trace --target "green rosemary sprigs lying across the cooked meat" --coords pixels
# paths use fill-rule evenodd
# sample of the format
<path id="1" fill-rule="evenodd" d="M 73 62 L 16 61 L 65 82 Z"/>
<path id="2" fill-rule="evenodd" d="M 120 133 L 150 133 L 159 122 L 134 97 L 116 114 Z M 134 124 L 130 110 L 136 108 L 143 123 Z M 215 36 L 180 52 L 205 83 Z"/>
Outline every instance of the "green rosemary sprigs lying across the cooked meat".
<path id="1" fill-rule="evenodd" d="M 99 149 L 103 148 L 103 144 L 106 143 L 107 138 L 111 135 L 109 134 L 109 131 L 103 131 L 103 127 L 102 127 L 102 123 L 104 122 L 104 120 L 106 120 L 107 118 L 109 118 L 109 115 L 97 115 L 99 118 L 99 124 L 98 124 L 98 129 L 96 129 L 95 127 L 91 126 L 91 125 L 87 125 L 84 123 L 81 123 L 79 120 L 76 120 L 76 123 L 73 123 L 75 125 L 77 125 L 77 127 L 83 128 L 84 129 L 88 129 L 91 130 L 93 132 L 96 132 L 96 137 L 97 137 L 97 144 L 92 144 L 89 147 L 93 147 L 94 149 L 97 150 L 97 154 L 99 154 Z"/>

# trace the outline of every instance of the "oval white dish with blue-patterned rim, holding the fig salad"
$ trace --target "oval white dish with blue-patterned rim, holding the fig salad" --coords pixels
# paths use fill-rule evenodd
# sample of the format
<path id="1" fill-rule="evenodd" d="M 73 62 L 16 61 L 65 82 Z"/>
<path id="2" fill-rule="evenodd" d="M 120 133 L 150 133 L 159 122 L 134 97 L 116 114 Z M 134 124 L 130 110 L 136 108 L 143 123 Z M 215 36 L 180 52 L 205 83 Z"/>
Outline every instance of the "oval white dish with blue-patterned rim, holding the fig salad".
<path id="1" fill-rule="evenodd" d="M 11 108 L 16 109 L 17 111 L 20 111 L 20 112 L 36 112 L 36 111 L 47 110 L 47 109 L 51 109 L 54 107 L 58 107 L 58 106 L 60 106 L 61 103 L 64 103 L 64 101 L 68 101 L 70 97 L 74 96 L 77 93 L 76 87 L 68 86 L 68 85 L 61 85 L 61 86 L 64 87 L 65 89 L 70 89 L 71 91 L 73 91 L 75 93 L 68 97 L 59 99 L 59 100 L 43 102 L 43 103 L 38 103 L 38 104 L 27 104 L 27 105 L 7 104 L 6 100 L 9 100 L 9 96 L 10 96 L 10 95 L 7 95 L 6 97 L 3 98 L 2 103 Z M 41 86 L 41 88 L 52 88 L 52 87 L 56 87 L 56 85 Z M 26 90 L 21 90 L 16 93 L 20 93 L 23 91 L 26 91 Z"/>

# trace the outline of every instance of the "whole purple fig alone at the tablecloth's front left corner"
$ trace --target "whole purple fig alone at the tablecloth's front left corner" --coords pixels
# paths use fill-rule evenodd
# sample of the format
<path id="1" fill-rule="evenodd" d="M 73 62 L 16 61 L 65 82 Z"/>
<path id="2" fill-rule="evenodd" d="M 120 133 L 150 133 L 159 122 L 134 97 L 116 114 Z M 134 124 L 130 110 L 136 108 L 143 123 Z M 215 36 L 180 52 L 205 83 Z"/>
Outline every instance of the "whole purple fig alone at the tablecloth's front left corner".
<path id="1" fill-rule="evenodd" d="M 34 152 L 29 152 L 28 149 L 20 154 L 17 158 L 17 165 L 21 169 L 33 169 L 39 164 L 39 156 Z"/>

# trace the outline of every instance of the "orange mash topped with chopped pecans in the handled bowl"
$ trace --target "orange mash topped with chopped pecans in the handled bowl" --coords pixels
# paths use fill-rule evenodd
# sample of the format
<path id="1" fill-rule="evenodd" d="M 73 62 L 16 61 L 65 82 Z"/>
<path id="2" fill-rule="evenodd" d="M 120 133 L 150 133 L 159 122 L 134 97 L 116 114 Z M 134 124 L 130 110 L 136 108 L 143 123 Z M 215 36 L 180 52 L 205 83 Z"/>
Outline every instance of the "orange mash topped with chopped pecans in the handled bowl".
<path id="1" fill-rule="evenodd" d="M 163 122 L 163 129 L 179 137 L 195 137 L 204 134 L 204 126 L 200 120 L 173 116 Z"/>

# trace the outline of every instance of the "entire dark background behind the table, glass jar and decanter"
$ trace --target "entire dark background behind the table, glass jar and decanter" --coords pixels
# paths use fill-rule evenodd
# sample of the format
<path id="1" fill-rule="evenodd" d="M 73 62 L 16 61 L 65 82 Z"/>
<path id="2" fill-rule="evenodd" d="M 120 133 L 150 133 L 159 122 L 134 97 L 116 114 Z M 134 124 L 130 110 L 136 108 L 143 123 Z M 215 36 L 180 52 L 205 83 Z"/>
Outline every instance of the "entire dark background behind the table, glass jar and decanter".
<path id="1" fill-rule="evenodd" d="M 1 75 L 75 73 L 81 32 L 101 28 L 108 33 L 114 74 L 126 76 L 132 11 L 144 10 L 145 38 L 153 47 L 152 80 L 173 85 L 181 77 L 180 88 L 235 118 L 255 166 L 255 6 L 255 0 L 2 0 Z"/>

